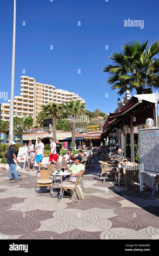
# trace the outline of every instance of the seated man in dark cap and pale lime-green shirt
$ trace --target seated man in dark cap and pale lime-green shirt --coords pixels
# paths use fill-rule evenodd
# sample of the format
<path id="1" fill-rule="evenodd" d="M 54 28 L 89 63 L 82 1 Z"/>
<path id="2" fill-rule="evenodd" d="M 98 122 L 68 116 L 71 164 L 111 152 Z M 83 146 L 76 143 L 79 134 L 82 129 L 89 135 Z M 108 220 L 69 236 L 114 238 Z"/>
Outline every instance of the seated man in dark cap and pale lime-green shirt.
<path id="1" fill-rule="evenodd" d="M 81 163 L 82 162 L 81 156 L 77 156 L 76 158 L 74 158 L 74 162 L 75 163 L 68 169 L 68 172 L 72 171 L 72 174 L 70 175 L 70 177 L 83 174 L 85 171 L 85 166 Z M 71 179 L 70 181 L 76 182 L 76 177 L 74 179 Z M 67 195 L 67 194 L 68 194 L 67 189 L 65 189 L 64 195 Z"/>

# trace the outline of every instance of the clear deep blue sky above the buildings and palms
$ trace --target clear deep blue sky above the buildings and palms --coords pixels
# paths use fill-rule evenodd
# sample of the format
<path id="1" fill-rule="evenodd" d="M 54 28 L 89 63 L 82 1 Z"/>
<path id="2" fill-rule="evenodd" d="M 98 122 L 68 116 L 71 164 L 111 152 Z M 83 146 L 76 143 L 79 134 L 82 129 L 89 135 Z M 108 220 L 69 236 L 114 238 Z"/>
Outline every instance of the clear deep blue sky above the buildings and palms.
<path id="1" fill-rule="evenodd" d="M 10 99 L 13 0 L 0 0 L 0 91 Z M 123 43 L 158 38 L 158 0 L 17 0 L 15 90 L 20 76 L 78 93 L 87 109 L 113 112 L 117 91 L 105 84 L 102 68 Z M 144 29 L 124 27 L 125 19 L 144 20 Z M 25 21 L 25 26 L 22 22 Z M 81 26 L 77 22 L 81 21 Z M 53 50 L 50 50 L 53 45 Z M 108 45 L 108 50 L 105 50 Z M 22 73 L 25 69 L 25 74 Z M 81 74 L 77 70 L 81 69 Z M 108 93 L 108 98 L 105 94 Z M 133 92 L 136 94 L 136 91 Z M 131 95 L 133 95 L 133 93 Z M 0 99 L 0 103 L 5 102 Z"/>

